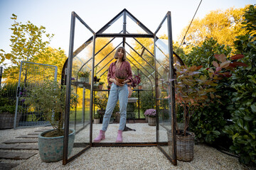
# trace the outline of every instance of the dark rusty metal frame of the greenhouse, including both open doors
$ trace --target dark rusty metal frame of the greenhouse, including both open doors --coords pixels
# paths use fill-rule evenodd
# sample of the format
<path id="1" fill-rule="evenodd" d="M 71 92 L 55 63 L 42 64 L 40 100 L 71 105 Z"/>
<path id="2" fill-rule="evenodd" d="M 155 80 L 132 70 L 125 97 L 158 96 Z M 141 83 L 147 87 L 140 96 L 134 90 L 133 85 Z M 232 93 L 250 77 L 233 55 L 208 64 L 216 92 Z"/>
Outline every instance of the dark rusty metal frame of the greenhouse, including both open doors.
<path id="1" fill-rule="evenodd" d="M 112 23 L 114 23 L 115 21 L 117 21 L 120 17 L 123 16 L 123 30 L 120 32 L 120 33 L 104 33 L 105 30 L 107 30 L 107 28 L 109 28 Z M 129 16 L 129 18 L 132 19 L 132 21 L 136 22 L 137 25 L 139 25 L 143 30 L 146 31 L 147 34 L 134 34 L 134 33 L 128 33 L 127 32 L 127 28 L 126 28 L 126 22 L 127 22 L 127 16 Z M 78 20 L 88 29 L 90 30 L 90 32 L 93 34 L 91 38 L 89 38 L 87 41 L 85 41 L 80 47 L 78 47 L 77 50 L 75 50 L 75 52 L 73 52 L 73 45 L 74 45 L 74 34 L 75 34 L 75 18 L 78 18 Z M 169 60 L 171 61 L 170 63 L 170 68 L 171 68 L 171 71 L 170 71 L 170 74 L 171 74 L 171 77 L 174 77 L 174 72 L 173 72 L 173 47 L 172 47 L 172 39 L 171 39 L 171 12 L 168 12 L 166 14 L 166 16 L 164 17 L 164 20 L 165 19 L 168 19 L 168 36 L 169 36 L 169 54 L 171 54 L 171 57 L 169 57 Z M 164 20 L 161 22 L 161 24 L 164 22 Z M 114 38 L 123 38 L 122 39 L 122 42 L 119 44 L 119 45 L 125 45 L 127 44 L 130 48 L 132 48 L 127 42 L 126 42 L 126 38 L 134 38 L 137 42 L 139 42 L 136 38 L 154 38 L 154 41 L 156 41 L 157 37 L 156 37 L 156 33 L 157 31 L 161 28 L 161 24 L 159 26 L 159 28 L 156 29 L 156 32 L 155 33 L 152 33 L 148 28 L 146 28 L 139 20 L 137 20 L 137 18 L 135 18 L 134 16 L 132 16 L 131 13 L 129 13 L 129 11 L 127 11 L 125 8 L 123 11 L 121 11 L 119 14 L 117 14 L 117 16 L 115 16 L 114 18 L 112 18 L 112 20 L 107 23 L 105 26 L 103 26 L 99 31 L 97 31 L 97 33 L 95 33 L 89 26 L 87 26 L 87 24 L 82 21 L 82 19 L 75 13 L 75 12 L 72 12 L 72 15 L 71 15 L 71 26 L 70 26 L 70 47 L 69 47 L 69 55 L 68 55 L 68 60 L 65 62 L 64 64 L 64 67 L 63 67 L 63 72 L 62 72 L 62 79 L 61 79 L 61 83 L 62 84 L 66 84 L 67 88 L 66 88 L 66 98 L 65 98 L 65 104 L 66 104 L 66 108 L 65 108 L 65 134 L 64 134 L 64 141 L 63 141 L 63 144 L 64 144 L 64 147 L 63 147 L 63 164 L 68 164 L 68 162 L 72 161 L 73 159 L 75 159 L 75 157 L 78 157 L 80 154 L 82 154 L 83 152 L 85 152 L 87 149 L 90 149 L 90 147 L 149 147 L 149 146 L 158 146 L 159 149 L 161 150 L 161 152 L 163 152 L 166 157 L 171 160 L 171 162 L 176 165 L 176 159 L 171 159 L 168 154 L 166 154 L 164 152 L 163 149 L 161 149 L 161 147 L 159 146 L 159 141 L 158 141 L 158 133 L 157 133 L 157 130 L 159 130 L 159 120 L 158 120 L 158 111 L 157 111 L 157 105 L 156 105 L 156 113 L 157 113 L 157 116 L 156 116 L 156 119 L 157 119 L 157 125 L 156 125 L 156 142 L 142 142 L 142 143 L 123 143 L 123 144 L 119 144 L 119 143 L 92 143 L 92 99 L 93 99 L 93 81 L 91 82 L 91 86 L 90 86 L 90 143 L 88 143 L 87 147 L 85 147 L 84 149 L 82 149 L 82 151 L 80 151 L 78 154 L 76 154 L 75 156 L 73 157 L 70 157 L 68 159 L 68 130 L 69 130 L 69 118 L 70 118 L 70 90 L 71 90 L 71 73 L 72 73 L 72 64 L 73 64 L 73 58 L 79 54 L 79 52 L 81 52 L 83 49 L 85 49 L 85 47 L 87 47 L 87 45 L 89 45 L 91 42 L 93 42 L 93 49 L 92 49 L 92 57 L 89 59 L 89 60 L 92 60 L 92 79 L 94 77 L 94 68 L 95 68 L 95 55 L 97 55 L 104 47 L 106 47 L 107 45 L 105 45 L 104 47 L 102 47 L 102 49 L 100 49 L 96 54 L 95 54 L 95 39 L 96 38 L 105 38 L 105 37 L 108 37 L 108 38 L 112 38 L 112 40 L 114 40 Z M 110 42 L 112 41 L 110 40 Z M 110 42 L 107 42 L 107 44 L 109 44 Z M 140 45 L 142 45 L 140 42 L 139 42 Z M 146 47 L 144 47 L 142 45 L 142 47 L 144 48 L 143 49 L 143 52 L 144 50 L 147 50 Z M 132 48 L 132 50 L 134 50 Z M 134 50 L 135 52 L 137 52 L 136 50 Z M 147 50 L 149 52 L 149 50 Z M 139 57 L 142 57 L 143 55 L 143 52 L 142 54 L 140 55 L 138 52 L 137 52 L 137 55 L 139 55 Z M 110 52 L 111 53 L 111 52 Z M 149 52 L 151 54 L 151 52 Z M 127 52 L 127 54 L 129 55 L 129 53 Z M 110 55 L 110 54 L 108 54 Z M 107 55 L 107 56 L 108 56 Z M 147 77 L 149 79 L 149 77 L 151 76 L 153 79 L 157 80 L 158 79 L 158 76 L 161 76 L 159 74 L 159 72 L 156 70 L 156 62 L 158 62 L 156 60 L 156 57 L 155 55 L 156 54 L 151 54 L 152 57 L 154 57 L 154 60 L 155 60 L 155 66 L 151 66 L 151 64 L 149 64 L 146 60 L 146 63 L 148 63 L 155 71 L 155 77 L 153 76 L 154 73 L 149 73 L 149 76 Z M 105 60 L 104 57 L 102 60 Z M 129 55 L 132 57 L 132 55 Z M 134 57 L 132 57 L 134 59 Z M 143 59 L 143 57 L 142 57 Z M 87 62 L 89 62 L 89 60 Z M 102 60 L 100 62 L 102 62 Z M 134 59 L 135 60 L 135 59 Z M 110 60 L 111 62 L 112 60 Z M 135 60 L 137 62 L 137 60 Z M 85 64 L 87 63 L 85 62 Z M 98 64 L 97 63 L 96 66 Z M 139 62 L 138 62 L 139 63 Z M 83 66 L 85 66 L 85 64 L 83 64 Z M 132 63 L 134 64 L 134 63 Z M 159 63 L 160 64 L 160 63 Z M 135 65 L 135 64 L 134 64 Z M 140 64 L 141 65 L 141 64 Z M 82 67 L 83 67 L 82 66 Z M 68 68 L 67 68 L 68 67 Z M 141 67 L 143 69 L 145 69 L 142 65 Z M 82 69 L 82 68 L 80 68 Z M 102 68 L 103 69 L 103 68 Z M 100 69 L 100 71 L 102 70 Z M 137 68 L 139 69 L 139 68 Z M 146 69 L 145 69 L 146 70 Z M 99 72 L 100 72 L 99 71 Z M 147 71 L 147 70 L 146 70 Z M 97 73 L 99 73 L 97 72 Z M 107 70 L 105 71 L 107 72 Z M 103 74 L 105 74 L 105 72 Z M 143 72 L 142 72 L 143 73 Z M 144 74 L 144 73 L 143 73 Z M 66 80 L 66 82 L 65 82 Z M 149 81 L 151 82 L 151 79 L 149 79 Z M 152 84 L 152 82 L 151 82 Z M 155 81 L 155 86 L 157 87 L 158 86 L 158 83 Z M 173 96 L 173 99 L 172 99 L 172 102 L 174 102 L 174 86 L 172 86 L 172 96 Z M 172 114 L 173 114 L 173 118 L 175 118 L 175 104 L 172 103 L 171 105 L 171 111 L 172 111 Z M 174 126 L 174 120 L 172 120 L 172 125 Z M 175 127 L 174 127 L 175 128 Z M 174 128 L 172 128 L 172 130 L 174 130 Z M 174 134 L 174 133 L 173 133 Z M 175 137 L 173 137 L 173 140 L 175 141 Z M 81 145 L 83 143 L 80 143 Z M 85 143 L 84 143 L 85 145 Z M 165 143 L 166 145 L 166 143 Z M 176 146 L 174 147 L 175 151 L 176 151 Z M 174 152 L 174 154 L 176 154 L 176 152 Z M 176 157 L 176 155 L 174 155 Z"/>

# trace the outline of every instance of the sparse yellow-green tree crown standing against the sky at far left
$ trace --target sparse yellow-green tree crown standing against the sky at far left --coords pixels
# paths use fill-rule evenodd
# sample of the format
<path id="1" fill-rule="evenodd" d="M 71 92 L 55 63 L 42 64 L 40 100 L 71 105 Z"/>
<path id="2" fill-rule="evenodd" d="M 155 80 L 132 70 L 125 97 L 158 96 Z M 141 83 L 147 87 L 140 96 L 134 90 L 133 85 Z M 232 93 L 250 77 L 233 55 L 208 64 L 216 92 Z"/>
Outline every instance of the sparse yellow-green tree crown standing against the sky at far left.
<path id="1" fill-rule="evenodd" d="M 17 16 L 12 14 L 14 24 L 10 28 L 13 33 L 11 35 L 11 52 L 0 53 L 1 63 L 5 60 L 11 60 L 11 63 L 19 66 L 22 60 L 32 60 L 38 52 L 45 50 L 46 46 L 53 38 L 53 34 L 46 34 L 46 28 L 43 26 L 35 26 L 28 21 L 26 24 L 17 22 Z M 43 41 L 43 35 L 46 35 L 47 40 Z M 1 49 L 1 52 L 5 52 Z"/>

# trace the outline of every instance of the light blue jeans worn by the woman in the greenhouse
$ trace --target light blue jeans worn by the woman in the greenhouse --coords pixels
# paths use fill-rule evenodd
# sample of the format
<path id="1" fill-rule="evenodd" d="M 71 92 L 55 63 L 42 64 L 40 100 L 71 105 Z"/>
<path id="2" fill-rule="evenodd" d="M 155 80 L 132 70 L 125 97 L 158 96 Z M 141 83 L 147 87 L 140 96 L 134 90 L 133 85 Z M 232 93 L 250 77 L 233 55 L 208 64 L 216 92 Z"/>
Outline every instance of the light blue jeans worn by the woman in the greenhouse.
<path id="1" fill-rule="evenodd" d="M 127 84 L 124 86 L 117 86 L 112 83 L 110 89 L 110 96 L 107 101 L 107 108 L 105 111 L 105 115 L 103 117 L 102 130 L 106 131 L 107 126 L 110 123 L 110 117 L 112 112 L 114 111 L 114 107 L 117 104 L 119 99 L 119 112 L 120 112 L 120 122 L 119 122 L 119 130 L 124 130 L 124 126 L 127 120 L 127 102 L 128 102 L 128 87 Z"/>

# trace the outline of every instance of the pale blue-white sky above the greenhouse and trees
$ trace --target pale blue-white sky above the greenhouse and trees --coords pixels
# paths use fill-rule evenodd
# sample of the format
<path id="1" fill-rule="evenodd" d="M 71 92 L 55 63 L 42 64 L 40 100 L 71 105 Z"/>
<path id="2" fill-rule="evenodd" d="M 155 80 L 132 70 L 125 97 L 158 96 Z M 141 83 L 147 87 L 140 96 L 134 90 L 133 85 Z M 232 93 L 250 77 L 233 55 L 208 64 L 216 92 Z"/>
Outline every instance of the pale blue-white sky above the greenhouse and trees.
<path id="1" fill-rule="evenodd" d="M 188 26 L 201 0 L 0 0 L 0 49 L 10 52 L 12 13 L 17 21 L 31 21 L 46 27 L 46 33 L 55 36 L 50 47 L 65 50 L 68 54 L 71 12 L 75 13 L 97 32 L 114 16 L 127 9 L 153 33 L 168 11 L 171 11 L 173 40 L 178 40 L 181 30 Z M 195 18 L 203 18 L 210 11 L 243 8 L 256 4 L 252 0 L 203 0 Z M 183 35 L 182 35 L 183 36 Z"/>

